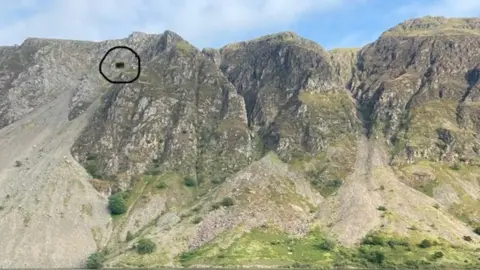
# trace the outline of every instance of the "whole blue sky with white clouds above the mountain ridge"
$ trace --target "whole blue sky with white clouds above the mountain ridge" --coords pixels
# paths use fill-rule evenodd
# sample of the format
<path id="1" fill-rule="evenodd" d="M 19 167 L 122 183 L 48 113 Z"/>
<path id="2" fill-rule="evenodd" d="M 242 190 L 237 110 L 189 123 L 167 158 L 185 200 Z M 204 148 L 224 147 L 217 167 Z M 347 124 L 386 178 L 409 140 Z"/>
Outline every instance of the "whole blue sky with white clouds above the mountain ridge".
<path id="1" fill-rule="evenodd" d="M 198 48 L 293 31 L 361 47 L 422 16 L 479 17 L 480 0 L 0 0 L 0 45 L 27 37 L 101 41 L 171 30 Z"/>

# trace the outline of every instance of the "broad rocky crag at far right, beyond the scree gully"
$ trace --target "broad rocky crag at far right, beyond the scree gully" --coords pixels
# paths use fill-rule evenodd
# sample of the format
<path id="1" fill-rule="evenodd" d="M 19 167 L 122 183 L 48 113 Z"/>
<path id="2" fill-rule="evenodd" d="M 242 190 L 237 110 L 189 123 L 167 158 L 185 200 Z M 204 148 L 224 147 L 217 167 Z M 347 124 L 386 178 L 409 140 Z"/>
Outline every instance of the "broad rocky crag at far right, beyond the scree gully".
<path id="1" fill-rule="evenodd" d="M 472 162 L 477 153 L 478 19 L 412 20 L 360 52 L 353 92 L 399 161 Z"/>

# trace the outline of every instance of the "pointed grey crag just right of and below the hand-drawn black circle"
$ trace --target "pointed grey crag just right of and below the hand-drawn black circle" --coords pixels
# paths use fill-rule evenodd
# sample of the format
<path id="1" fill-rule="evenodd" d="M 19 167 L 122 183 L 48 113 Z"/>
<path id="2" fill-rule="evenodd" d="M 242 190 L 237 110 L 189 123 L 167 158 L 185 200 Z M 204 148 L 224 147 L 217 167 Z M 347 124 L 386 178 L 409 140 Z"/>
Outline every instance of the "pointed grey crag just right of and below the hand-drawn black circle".
<path id="1" fill-rule="evenodd" d="M 219 182 L 252 160 L 243 99 L 200 51 L 166 32 L 138 81 L 112 87 L 72 151 L 104 176 L 147 169 Z"/>

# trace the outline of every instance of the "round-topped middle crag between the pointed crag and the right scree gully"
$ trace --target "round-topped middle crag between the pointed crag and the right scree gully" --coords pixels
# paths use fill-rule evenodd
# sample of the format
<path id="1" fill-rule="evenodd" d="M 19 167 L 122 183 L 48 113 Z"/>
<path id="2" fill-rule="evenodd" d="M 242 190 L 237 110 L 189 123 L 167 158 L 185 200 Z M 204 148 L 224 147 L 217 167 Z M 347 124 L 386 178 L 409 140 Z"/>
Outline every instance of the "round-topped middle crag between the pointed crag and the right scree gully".
<path id="1" fill-rule="evenodd" d="M 249 126 L 266 149 L 319 185 L 348 174 L 355 147 L 348 142 L 359 130 L 346 88 L 354 54 L 330 55 L 290 32 L 230 44 L 220 54 L 220 68 L 244 97 Z"/>

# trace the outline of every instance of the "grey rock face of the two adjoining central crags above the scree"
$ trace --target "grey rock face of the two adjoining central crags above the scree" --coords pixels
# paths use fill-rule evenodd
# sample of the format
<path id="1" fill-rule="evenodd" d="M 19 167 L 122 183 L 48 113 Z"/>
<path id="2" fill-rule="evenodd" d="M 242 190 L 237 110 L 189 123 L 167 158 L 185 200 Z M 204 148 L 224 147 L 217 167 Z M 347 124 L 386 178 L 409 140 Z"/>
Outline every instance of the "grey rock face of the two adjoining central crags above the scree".
<path id="1" fill-rule="evenodd" d="M 355 56 L 330 56 L 292 33 L 203 52 L 166 33 L 152 46 L 140 80 L 106 94 L 73 148 L 123 177 L 122 188 L 149 166 L 218 182 L 264 145 L 291 160 L 356 132 L 347 72 L 335 62 Z"/>

